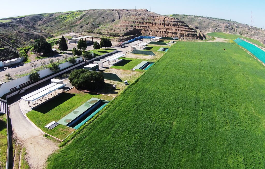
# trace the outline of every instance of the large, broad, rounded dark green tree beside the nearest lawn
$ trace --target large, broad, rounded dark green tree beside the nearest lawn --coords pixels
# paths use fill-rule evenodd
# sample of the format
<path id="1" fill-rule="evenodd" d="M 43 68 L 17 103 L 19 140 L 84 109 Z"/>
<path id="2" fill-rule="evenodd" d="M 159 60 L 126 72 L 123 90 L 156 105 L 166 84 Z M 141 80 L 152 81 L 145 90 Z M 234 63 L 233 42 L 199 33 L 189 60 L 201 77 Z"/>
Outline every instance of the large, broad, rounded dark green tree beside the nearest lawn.
<path id="1" fill-rule="evenodd" d="M 71 84 L 76 88 L 95 90 L 104 86 L 104 77 L 101 72 L 74 70 L 70 73 Z"/>

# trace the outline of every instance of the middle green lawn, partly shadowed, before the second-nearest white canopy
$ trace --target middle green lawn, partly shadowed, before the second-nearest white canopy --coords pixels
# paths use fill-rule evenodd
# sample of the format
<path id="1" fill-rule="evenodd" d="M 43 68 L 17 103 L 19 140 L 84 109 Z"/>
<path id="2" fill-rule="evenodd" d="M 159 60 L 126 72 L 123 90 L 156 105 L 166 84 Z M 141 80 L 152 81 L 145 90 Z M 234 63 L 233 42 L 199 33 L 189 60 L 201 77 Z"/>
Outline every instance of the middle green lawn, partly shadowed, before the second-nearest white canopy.
<path id="1" fill-rule="evenodd" d="M 124 58 L 124 57 L 121 57 L 120 59 L 123 59 L 123 60 L 121 62 L 115 64 L 111 68 L 131 70 L 132 68 L 134 68 L 136 65 L 138 65 L 142 61 L 149 61 L 147 59 L 134 59 L 134 58 Z"/>

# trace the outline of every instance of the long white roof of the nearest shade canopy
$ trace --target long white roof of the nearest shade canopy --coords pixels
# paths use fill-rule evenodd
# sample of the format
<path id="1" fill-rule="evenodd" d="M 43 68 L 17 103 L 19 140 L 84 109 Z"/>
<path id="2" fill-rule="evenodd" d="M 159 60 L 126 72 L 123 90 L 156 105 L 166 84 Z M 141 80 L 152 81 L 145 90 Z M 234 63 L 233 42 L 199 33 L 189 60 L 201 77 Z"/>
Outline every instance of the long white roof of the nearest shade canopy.
<path id="1" fill-rule="evenodd" d="M 38 90 L 35 90 L 34 92 L 31 92 L 23 97 L 21 97 L 21 99 L 25 100 L 25 101 L 29 101 L 32 102 L 34 100 L 37 100 L 39 98 L 41 98 L 42 96 L 45 96 L 48 93 L 53 92 L 56 89 L 59 89 L 60 87 L 64 86 L 65 84 L 57 84 L 57 83 L 51 83 L 47 86 L 44 86 Z"/>

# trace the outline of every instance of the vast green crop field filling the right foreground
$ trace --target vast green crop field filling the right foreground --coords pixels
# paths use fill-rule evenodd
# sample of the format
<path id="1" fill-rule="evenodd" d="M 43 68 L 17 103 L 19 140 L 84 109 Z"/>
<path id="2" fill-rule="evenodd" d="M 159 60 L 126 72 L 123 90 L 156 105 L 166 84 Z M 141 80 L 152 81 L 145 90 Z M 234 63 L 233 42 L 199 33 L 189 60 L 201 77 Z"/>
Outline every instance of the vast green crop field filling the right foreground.
<path id="1" fill-rule="evenodd" d="M 264 98 L 237 45 L 178 42 L 47 168 L 263 168 Z"/>

